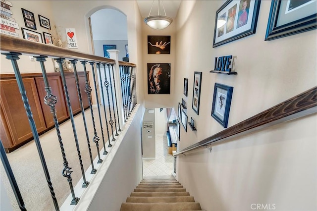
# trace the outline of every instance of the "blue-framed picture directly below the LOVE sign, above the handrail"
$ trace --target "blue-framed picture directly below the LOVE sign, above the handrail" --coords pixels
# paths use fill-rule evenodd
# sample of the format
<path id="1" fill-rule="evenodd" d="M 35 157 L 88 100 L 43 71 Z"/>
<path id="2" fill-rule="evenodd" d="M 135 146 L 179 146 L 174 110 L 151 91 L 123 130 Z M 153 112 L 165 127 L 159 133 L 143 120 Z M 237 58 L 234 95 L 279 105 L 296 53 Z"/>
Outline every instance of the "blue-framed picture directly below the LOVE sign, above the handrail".
<path id="1" fill-rule="evenodd" d="M 233 87 L 214 84 L 211 116 L 224 128 L 228 126 Z"/>

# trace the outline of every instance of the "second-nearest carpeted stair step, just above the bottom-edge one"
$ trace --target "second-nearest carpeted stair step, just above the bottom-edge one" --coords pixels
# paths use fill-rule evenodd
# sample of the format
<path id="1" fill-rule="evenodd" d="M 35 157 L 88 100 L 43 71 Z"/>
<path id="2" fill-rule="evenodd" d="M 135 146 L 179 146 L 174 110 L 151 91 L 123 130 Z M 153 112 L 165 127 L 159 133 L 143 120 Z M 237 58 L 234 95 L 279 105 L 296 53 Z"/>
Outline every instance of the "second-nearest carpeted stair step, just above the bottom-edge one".
<path id="1" fill-rule="evenodd" d="M 174 203 L 174 202 L 195 202 L 192 196 L 173 196 L 173 197 L 128 197 L 128 203 Z"/>

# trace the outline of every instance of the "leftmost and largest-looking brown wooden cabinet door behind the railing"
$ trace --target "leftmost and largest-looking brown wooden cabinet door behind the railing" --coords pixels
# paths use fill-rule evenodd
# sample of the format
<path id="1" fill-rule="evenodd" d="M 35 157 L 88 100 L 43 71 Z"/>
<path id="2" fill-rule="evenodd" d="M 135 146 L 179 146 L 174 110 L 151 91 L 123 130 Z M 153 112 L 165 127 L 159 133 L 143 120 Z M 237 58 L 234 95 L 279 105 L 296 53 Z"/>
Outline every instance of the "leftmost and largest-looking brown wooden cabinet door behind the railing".
<path id="1" fill-rule="evenodd" d="M 29 104 L 37 131 L 40 133 L 46 129 L 46 125 L 35 85 L 35 80 L 33 78 L 24 78 L 23 84 L 26 95 L 29 99 Z M 16 80 L 1 80 L 0 88 L 1 118 L 3 123 L 6 123 L 6 129 L 8 130 L 7 134 L 10 134 L 10 137 L 6 138 L 11 142 L 11 146 L 4 147 L 10 148 L 24 142 L 29 138 L 32 138 L 33 134 Z M 2 135 L 4 134 L 1 133 L 1 136 Z M 3 145 L 5 144 L 6 143 L 3 143 Z"/>

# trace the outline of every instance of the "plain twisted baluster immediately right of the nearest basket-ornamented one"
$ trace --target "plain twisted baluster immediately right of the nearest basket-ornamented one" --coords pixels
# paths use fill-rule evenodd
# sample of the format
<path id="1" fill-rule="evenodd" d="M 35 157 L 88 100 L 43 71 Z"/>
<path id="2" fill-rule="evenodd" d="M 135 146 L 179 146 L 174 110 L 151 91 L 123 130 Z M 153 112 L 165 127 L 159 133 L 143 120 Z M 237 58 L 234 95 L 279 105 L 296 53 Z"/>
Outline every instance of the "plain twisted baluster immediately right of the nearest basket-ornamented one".
<path id="1" fill-rule="evenodd" d="M 86 181 L 83 161 L 81 159 L 81 154 L 80 154 L 80 149 L 79 149 L 79 144 L 78 144 L 77 132 L 76 132 L 76 128 L 75 128 L 74 115 L 73 115 L 73 111 L 71 109 L 70 99 L 69 99 L 69 95 L 68 95 L 68 88 L 67 88 L 66 79 L 65 79 L 65 75 L 64 75 L 63 62 L 64 62 L 65 58 L 57 58 L 55 60 L 58 63 L 59 69 L 60 69 L 60 75 L 61 75 L 61 80 L 62 80 L 63 86 L 64 86 L 64 93 L 65 93 L 65 96 L 66 96 L 68 113 L 69 113 L 69 116 L 70 116 L 71 126 L 73 128 L 75 144 L 76 144 L 77 154 L 78 154 L 78 158 L 79 158 L 80 169 L 81 169 L 81 173 L 83 175 L 84 183 L 83 183 L 82 187 L 86 188 L 89 185 L 89 182 Z"/>

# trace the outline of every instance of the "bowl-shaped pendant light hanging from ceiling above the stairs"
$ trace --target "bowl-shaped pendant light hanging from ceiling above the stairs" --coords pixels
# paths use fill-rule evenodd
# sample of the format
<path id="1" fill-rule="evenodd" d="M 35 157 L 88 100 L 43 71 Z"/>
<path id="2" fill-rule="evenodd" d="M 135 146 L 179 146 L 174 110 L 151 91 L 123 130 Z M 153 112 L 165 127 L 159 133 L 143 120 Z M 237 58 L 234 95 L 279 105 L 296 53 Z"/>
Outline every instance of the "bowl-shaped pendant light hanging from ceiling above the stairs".
<path id="1" fill-rule="evenodd" d="M 173 22 L 173 19 L 166 16 L 166 12 L 165 12 L 165 8 L 164 8 L 164 4 L 162 0 L 158 0 L 158 15 L 150 16 L 154 1 L 155 0 L 153 0 L 152 2 L 149 16 L 144 18 L 144 22 L 148 26 L 150 26 L 152 29 L 156 29 L 156 30 L 165 29 L 167 26 L 169 26 Z M 162 1 L 162 6 L 163 6 L 165 16 L 160 15 L 160 1 Z"/>

